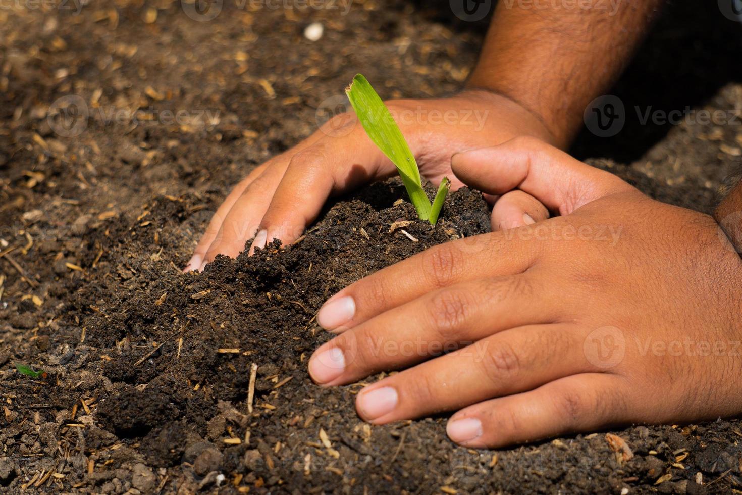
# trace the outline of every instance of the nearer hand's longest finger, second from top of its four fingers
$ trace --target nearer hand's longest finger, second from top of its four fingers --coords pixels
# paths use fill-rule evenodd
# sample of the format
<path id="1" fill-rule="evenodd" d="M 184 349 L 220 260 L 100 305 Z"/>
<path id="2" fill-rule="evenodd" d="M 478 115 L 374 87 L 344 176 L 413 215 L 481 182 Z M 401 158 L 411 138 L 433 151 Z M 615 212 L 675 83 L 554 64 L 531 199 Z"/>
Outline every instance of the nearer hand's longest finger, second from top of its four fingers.
<path id="1" fill-rule="evenodd" d="M 554 321 L 562 313 L 533 276 L 459 283 L 390 309 L 324 344 L 309 360 L 312 379 L 347 384 L 380 371 L 417 364 L 496 332 Z M 533 301 L 542 301 L 533 305 Z M 332 357 L 332 358 L 331 358 Z M 337 362 L 343 362 L 338 367 Z"/>

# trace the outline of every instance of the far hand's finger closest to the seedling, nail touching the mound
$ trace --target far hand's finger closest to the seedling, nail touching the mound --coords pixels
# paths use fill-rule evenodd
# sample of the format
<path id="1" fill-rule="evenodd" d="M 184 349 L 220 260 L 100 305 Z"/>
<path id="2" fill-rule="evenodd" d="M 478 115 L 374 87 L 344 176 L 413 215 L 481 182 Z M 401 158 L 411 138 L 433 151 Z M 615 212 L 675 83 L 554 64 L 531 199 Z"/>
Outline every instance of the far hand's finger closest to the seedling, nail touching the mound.
<path id="1" fill-rule="evenodd" d="M 331 194 L 386 177 L 392 171 L 387 157 L 358 132 L 328 137 L 295 154 L 260 221 L 260 234 L 251 251 L 262 249 L 273 239 L 284 245 L 292 243 L 315 220 Z"/>

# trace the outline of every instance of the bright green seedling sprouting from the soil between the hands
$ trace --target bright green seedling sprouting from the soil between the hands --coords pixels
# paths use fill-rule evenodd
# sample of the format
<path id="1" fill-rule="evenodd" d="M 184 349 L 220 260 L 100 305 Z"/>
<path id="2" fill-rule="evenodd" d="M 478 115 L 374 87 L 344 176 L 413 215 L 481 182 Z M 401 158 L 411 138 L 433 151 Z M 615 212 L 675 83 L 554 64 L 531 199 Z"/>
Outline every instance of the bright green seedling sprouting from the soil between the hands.
<path id="1" fill-rule="evenodd" d="M 451 181 L 447 177 L 441 180 L 441 186 L 431 204 L 430 198 L 422 189 L 420 170 L 410 146 L 404 140 L 389 109 L 370 83 L 364 76 L 357 74 L 345 92 L 368 137 L 396 165 L 404 189 L 407 189 L 410 202 L 417 209 L 420 220 L 428 220 L 431 225 L 436 225 Z"/>

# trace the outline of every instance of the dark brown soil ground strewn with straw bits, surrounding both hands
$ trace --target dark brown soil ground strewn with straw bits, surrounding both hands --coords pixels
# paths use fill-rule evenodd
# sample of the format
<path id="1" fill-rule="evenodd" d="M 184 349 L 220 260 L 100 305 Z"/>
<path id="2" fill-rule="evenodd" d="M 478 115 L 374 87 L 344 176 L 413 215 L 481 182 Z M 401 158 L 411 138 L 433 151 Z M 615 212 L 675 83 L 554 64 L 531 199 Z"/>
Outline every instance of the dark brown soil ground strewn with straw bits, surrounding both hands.
<path id="1" fill-rule="evenodd" d="M 356 1 L 347 16 L 224 8 L 212 22 L 167 0 L 87 5 L 79 16 L 0 10 L 1 492 L 741 488 L 736 421 L 612 432 L 633 450 L 628 461 L 605 432 L 477 451 L 447 440 L 444 417 L 371 427 L 355 415 L 360 384 L 312 384 L 306 359 L 329 338 L 314 324 L 319 306 L 427 246 L 486 232 L 487 207 L 474 191 L 453 194 L 436 228 L 405 227 L 418 242 L 390 232 L 395 220 L 414 219 L 408 203 L 394 206 L 402 189 L 377 184 L 341 198 L 289 249 L 181 274 L 229 186 L 309 134 L 319 102 L 353 74 L 383 82 L 383 96 L 446 94 L 482 36 L 481 27 L 451 22 L 447 2 Z M 663 53 L 659 65 L 686 68 L 666 53 L 701 36 L 703 12 L 674 7 L 640 59 Z M 301 33 L 315 20 L 326 32 L 312 44 Z M 725 29 L 709 28 L 706 45 L 682 50 L 715 68 L 732 50 L 729 39 L 715 44 Z M 683 85 L 668 82 L 663 105 L 740 108 L 742 86 L 729 73 L 683 76 Z M 619 88 L 638 77 L 630 71 Z M 68 95 L 91 107 L 75 137 L 47 119 Z M 141 113 L 138 123 L 112 121 L 96 108 Z M 218 118 L 165 122 L 163 111 L 179 110 Z M 708 210 L 737 160 L 739 128 L 628 125 L 611 140 L 623 142 L 620 153 L 588 136 L 575 149 L 660 200 Z M 47 374 L 23 376 L 16 362 Z"/>

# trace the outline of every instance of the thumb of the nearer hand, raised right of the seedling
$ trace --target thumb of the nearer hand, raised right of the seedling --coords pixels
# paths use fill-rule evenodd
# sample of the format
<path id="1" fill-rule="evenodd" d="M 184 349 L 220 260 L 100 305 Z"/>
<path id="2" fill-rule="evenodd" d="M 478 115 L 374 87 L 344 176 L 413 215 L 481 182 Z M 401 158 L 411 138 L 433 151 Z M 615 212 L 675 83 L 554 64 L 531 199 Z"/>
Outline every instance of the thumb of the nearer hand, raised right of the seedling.
<path id="1" fill-rule="evenodd" d="M 533 137 L 455 154 L 451 168 L 467 186 L 487 194 L 520 189 L 562 215 L 608 194 L 634 190 L 614 174 Z"/>

